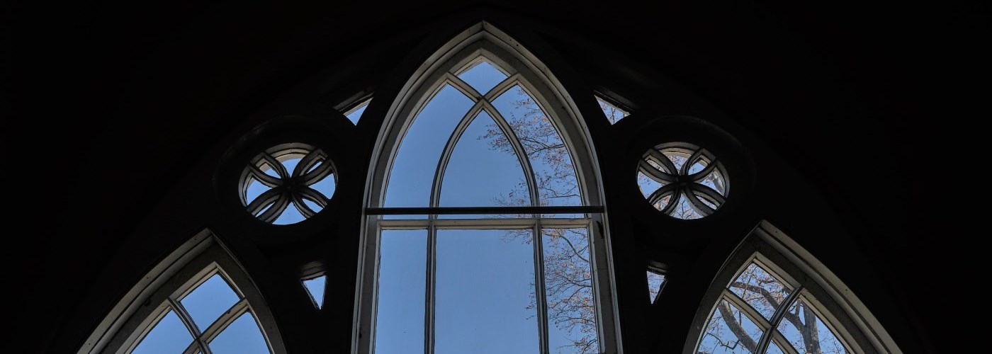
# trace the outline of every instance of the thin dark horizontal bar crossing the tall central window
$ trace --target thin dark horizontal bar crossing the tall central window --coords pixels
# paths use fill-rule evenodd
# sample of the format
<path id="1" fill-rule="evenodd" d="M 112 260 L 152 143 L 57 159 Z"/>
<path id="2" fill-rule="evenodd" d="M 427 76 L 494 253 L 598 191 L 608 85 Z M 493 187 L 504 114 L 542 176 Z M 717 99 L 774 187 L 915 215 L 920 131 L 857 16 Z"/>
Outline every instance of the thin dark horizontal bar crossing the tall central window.
<path id="1" fill-rule="evenodd" d="M 602 213 L 598 205 L 582 206 L 440 206 L 440 207 L 369 207 L 369 215 L 414 214 L 575 214 Z"/>

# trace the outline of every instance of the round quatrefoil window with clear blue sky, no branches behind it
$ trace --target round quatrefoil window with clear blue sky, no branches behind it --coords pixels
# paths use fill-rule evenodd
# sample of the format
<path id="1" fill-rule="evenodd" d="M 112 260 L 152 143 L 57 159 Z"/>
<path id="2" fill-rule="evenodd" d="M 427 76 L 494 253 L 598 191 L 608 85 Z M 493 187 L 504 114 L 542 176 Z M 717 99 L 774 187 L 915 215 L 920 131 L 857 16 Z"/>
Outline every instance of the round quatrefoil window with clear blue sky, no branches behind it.
<path id="1" fill-rule="evenodd" d="M 307 144 L 282 144 L 259 154 L 241 173 L 241 204 L 262 221 L 288 225 L 327 206 L 337 184 L 327 155 Z"/>

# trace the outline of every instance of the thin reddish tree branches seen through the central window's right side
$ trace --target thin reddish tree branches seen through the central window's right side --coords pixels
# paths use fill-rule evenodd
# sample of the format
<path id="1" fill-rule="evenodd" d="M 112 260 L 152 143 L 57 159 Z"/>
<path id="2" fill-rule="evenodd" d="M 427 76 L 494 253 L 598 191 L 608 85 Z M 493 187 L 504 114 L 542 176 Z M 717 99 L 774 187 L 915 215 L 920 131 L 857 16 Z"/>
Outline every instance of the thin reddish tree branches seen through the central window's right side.
<path id="1" fill-rule="evenodd" d="M 501 113 L 504 113 L 512 132 L 504 134 L 493 124 L 488 127 L 485 135 L 477 139 L 487 141 L 490 149 L 516 154 L 507 137 L 514 134 L 523 145 L 526 158 L 533 167 L 539 205 L 579 205 L 581 195 L 575 169 L 558 129 L 534 98 L 520 86 L 512 88 L 508 93 L 517 97 L 513 101 L 513 111 Z M 496 197 L 496 201 L 504 206 L 529 205 L 531 196 L 527 180 L 520 180 L 513 190 Z M 506 230 L 504 236 L 507 240 L 519 240 L 528 244 L 534 242 L 533 237 L 534 231 L 530 229 Z M 599 342 L 595 299 L 592 295 L 588 230 L 542 229 L 541 237 L 548 322 L 569 336 L 567 343 L 551 349 L 569 353 L 596 353 Z M 531 295 L 532 308 L 537 305 L 538 298 L 535 294 Z"/>

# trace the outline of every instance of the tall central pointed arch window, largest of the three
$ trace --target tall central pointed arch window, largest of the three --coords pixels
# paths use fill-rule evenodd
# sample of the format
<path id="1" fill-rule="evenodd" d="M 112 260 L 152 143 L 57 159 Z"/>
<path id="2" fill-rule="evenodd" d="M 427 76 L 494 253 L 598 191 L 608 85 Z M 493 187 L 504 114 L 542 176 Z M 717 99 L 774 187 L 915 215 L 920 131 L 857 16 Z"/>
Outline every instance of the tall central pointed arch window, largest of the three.
<path id="1" fill-rule="evenodd" d="M 357 352 L 615 352 L 595 159 L 557 79 L 481 23 L 409 79 L 376 144 Z"/>

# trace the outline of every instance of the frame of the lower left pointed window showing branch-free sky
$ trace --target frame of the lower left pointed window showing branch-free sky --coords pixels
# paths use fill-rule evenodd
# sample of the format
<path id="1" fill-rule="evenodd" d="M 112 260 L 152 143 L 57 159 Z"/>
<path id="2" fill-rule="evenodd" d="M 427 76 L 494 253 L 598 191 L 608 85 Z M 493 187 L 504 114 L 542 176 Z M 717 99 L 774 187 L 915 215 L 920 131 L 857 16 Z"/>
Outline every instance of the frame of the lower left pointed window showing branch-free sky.
<path id="1" fill-rule="evenodd" d="M 193 337 L 184 353 L 197 351 L 245 312 L 250 311 L 272 353 L 286 353 L 282 335 L 255 282 L 230 251 L 210 231 L 203 230 L 142 277 L 90 334 L 78 354 L 123 354 L 139 344 L 159 320 L 214 274 L 220 274 L 239 300 L 214 325 Z M 180 314 L 181 316 L 186 315 Z M 189 318 L 184 319 L 184 322 Z M 191 334 L 191 333 L 190 333 Z"/>

